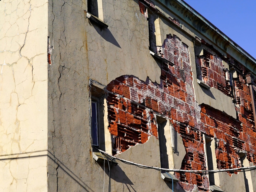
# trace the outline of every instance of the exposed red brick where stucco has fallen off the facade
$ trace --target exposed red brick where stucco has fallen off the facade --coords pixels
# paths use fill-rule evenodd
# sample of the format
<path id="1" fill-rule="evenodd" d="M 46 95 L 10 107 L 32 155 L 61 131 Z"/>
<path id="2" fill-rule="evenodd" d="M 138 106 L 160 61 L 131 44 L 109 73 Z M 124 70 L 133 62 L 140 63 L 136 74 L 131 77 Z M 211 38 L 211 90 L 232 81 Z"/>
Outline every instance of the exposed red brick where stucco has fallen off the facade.
<path id="1" fill-rule="evenodd" d="M 234 79 L 234 88 L 239 93 L 236 97 L 240 98 L 240 103 L 235 105 L 237 119 L 234 119 L 210 106 L 198 106 L 187 45 L 178 37 L 168 35 L 162 53 L 174 65 L 162 64 L 160 84 L 149 78 L 144 82 L 135 76 L 124 75 L 107 86 L 109 131 L 114 136 L 113 154 L 137 143 L 145 143 L 151 135 L 158 138 L 155 116 L 161 115 L 172 122 L 183 138 L 187 154 L 181 169 L 205 169 L 203 134 L 216 140 L 218 168 L 239 167 L 238 149 L 246 151 L 249 161 L 256 164 L 256 135 L 244 72 L 238 71 L 239 78 Z M 231 65 L 234 62 L 232 59 L 229 61 Z M 208 70 L 212 71 L 213 78 L 209 75 L 212 80 L 208 82 L 220 91 L 223 90 L 218 83 L 227 86 L 223 69 L 221 59 L 212 57 L 211 69 Z M 194 184 L 199 191 L 209 191 L 206 175 L 175 173 L 175 177 L 186 191 L 192 191 Z"/>

